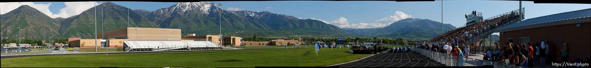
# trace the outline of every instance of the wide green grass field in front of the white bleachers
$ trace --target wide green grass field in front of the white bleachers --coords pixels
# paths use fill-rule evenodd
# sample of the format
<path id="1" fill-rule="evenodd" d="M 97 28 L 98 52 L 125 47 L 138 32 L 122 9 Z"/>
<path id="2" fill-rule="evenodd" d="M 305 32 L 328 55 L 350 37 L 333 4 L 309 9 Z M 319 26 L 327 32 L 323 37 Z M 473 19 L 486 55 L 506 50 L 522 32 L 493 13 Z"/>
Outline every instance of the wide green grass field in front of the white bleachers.
<path id="1" fill-rule="evenodd" d="M 1 67 L 254 67 L 326 66 L 369 55 L 346 53 L 349 49 L 223 50 L 205 52 L 125 53 L 15 57 L 1 60 Z M 59 60 L 59 61 L 56 61 Z M 65 60 L 65 61 L 64 61 Z"/>

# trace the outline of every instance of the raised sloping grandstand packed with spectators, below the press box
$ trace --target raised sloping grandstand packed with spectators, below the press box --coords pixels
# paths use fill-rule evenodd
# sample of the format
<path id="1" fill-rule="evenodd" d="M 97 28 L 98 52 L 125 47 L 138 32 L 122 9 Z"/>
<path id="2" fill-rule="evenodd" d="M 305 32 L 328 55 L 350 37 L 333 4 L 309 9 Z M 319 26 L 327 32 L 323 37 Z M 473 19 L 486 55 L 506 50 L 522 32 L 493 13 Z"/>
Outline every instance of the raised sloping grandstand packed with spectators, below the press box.
<path id="1" fill-rule="evenodd" d="M 470 25 L 450 30 L 428 40 L 428 42 L 457 42 L 466 45 L 487 35 L 491 35 L 495 32 L 496 28 L 521 21 L 524 16 L 524 10 L 525 8 L 517 9 L 488 19 L 483 19 L 478 23 L 471 23 Z M 476 15 L 474 13 L 475 12 L 473 12 L 473 15 Z"/>

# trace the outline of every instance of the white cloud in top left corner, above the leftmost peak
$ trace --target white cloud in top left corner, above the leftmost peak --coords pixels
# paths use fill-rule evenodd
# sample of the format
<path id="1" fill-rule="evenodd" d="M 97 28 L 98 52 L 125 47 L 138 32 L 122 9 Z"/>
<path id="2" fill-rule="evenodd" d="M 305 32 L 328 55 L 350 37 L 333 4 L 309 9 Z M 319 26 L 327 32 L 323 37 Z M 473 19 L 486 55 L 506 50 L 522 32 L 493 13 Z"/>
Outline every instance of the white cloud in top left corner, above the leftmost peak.
<path id="1" fill-rule="evenodd" d="M 21 5 L 29 5 L 37 9 L 38 11 L 44 13 L 45 15 L 53 15 L 53 13 L 49 11 L 49 6 L 51 4 L 39 4 L 33 2 L 1 2 L 0 6 L 2 6 L 2 9 L 0 9 L 0 14 L 8 13 L 14 9 L 17 9 Z"/>

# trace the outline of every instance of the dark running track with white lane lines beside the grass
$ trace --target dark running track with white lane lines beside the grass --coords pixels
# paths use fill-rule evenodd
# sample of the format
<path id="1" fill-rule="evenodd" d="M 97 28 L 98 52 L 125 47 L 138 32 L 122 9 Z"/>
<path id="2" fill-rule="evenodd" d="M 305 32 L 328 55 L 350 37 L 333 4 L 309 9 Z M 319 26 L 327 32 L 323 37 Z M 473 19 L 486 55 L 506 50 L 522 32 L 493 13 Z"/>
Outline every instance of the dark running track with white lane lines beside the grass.
<path id="1" fill-rule="evenodd" d="M 443 66 L 415 52 L 382 52 L 355 62 L 337 64 L 339 67 L 430 67 Z"/>

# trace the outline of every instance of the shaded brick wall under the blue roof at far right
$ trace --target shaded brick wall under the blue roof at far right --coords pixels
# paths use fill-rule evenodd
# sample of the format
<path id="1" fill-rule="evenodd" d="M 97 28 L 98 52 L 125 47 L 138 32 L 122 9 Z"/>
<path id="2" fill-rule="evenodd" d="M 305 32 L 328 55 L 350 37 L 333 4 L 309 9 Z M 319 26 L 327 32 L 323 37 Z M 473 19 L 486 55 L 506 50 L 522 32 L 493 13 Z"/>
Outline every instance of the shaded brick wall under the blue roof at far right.
<path id="1" fill-rule="evenodd" d="M 554 60 L 548 60 L 548 62 L 561 61 L 560 50 L 562 49 L 562 43 L 564 42 L 569 44 L 568 54 L 570 60 L 575 60 L 577 58 L 587 60 L 586 58 L 589 58 L 589 52 L 591 52 L 591 22 L 582 23 L 581 27 L 576 27 L 576 23 L 574 23 L 542 28 L 513 30 L 501 34 L 499 45 L 503 48 L 505 43 L 508 42 L 508 38 L 513 38 L 512 42 L 514 45 L 518 45 L 521 43 L 519 42 L 519 38 L 524 37 L 529 37 L 529 42 L 532 43 L 541 43 L 542 40 L 544 40 L 544 42 L 554 42 L 554 46 L 550 47 L 551 50 L 549 53 L 550 55 L 553 55 L 552 57 L 554 58 L 548 56 L 548 58 Z"/>

